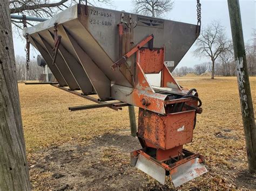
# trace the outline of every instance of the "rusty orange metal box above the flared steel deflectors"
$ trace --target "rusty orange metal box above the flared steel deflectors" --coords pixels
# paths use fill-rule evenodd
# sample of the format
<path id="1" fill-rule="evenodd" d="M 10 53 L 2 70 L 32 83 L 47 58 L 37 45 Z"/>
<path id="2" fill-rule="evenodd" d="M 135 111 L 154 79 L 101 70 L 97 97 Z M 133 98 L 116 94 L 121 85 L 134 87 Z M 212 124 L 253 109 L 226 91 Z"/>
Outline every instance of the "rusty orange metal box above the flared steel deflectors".
<path id="1" fill-rule="evenodd" d="M 139 109 L 138 137 L 167 150 L 192 142 L 195 110 L 159 115 Z"/>

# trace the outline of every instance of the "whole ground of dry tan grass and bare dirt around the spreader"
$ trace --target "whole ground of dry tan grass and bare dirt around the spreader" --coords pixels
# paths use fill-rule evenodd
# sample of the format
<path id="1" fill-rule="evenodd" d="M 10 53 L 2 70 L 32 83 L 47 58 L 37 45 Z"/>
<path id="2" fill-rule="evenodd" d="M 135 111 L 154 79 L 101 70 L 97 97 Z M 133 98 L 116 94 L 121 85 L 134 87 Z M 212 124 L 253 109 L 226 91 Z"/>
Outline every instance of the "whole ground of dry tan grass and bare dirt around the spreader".
<path id="1" fill-rule="evenodd" d="M 247 172 L 236 78 L 177 80 L 196 88 L 203 102 L 193 143 L 185 147 L 205 155 L 208 169 L 180 189 L 256 189 L 256 176 Z M 256 77 L 250 81 L 256 108 Z M 50 85 L 19 83 L 19 95 L 34 189 L 174 188 L 129 165 L 130 151 L 140 146 L 130 136 L 127 108 L 70 112 L 68 107 L 92 102 Z"/>

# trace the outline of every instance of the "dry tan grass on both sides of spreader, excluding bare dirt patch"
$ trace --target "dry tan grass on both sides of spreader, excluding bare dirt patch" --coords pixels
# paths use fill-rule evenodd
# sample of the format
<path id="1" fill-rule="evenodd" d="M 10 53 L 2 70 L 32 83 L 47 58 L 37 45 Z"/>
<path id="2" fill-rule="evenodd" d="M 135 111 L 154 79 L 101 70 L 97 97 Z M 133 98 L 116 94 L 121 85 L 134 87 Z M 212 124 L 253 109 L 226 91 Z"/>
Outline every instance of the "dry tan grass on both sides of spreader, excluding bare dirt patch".
<path id="1" fill-rule="evenodd" d="M 181 188 L 256 189 L 255 176 L 247 173 L 236 78 L 217 77 L 216 80 L 210 80 L 208 77 L 181 77 L 177 80 L 183 87 L 197 88 L 203 101 L 203 114 L 198 115 L 193 143 L 186 145 L 186 148 L 205 155 L 209 171 Z M 256 77 L 251 77 L 250 80 L 253 104 L 256 108 Z M 92 102 L 50 85 L 26 86 L 21 83 L 19 94 L 30 164 L 36 162 L 38 152 L 50 150 L 52 146 L 67 143 L 86 145 L 106 133 L 114 135 L 129 130 L 127 108 L 118 112 L 109 108 L 70 112 L 70 106 Z M 113 157 L 111 153 L 118 151 L 114 147 L 104 151 L 103 161 L 109 162 Z M 129 154 L 123 156 L 124 160 L 129 160 Z M 119 160 L 120 156 L 117 159 Z M 51 188 L 43 183 L 46 179 L 43 176 L 48 177 L 49 182 L 52 179 L 45 172 L 31 171 L 34 188 Z M 144 180 L 144 188 L 145 185 L 155 189 L 173 188 L 171 184 L 163 187 L 149 177 Z M 109 187 L 106 186 L 105 189 L 107 188 Z"/>

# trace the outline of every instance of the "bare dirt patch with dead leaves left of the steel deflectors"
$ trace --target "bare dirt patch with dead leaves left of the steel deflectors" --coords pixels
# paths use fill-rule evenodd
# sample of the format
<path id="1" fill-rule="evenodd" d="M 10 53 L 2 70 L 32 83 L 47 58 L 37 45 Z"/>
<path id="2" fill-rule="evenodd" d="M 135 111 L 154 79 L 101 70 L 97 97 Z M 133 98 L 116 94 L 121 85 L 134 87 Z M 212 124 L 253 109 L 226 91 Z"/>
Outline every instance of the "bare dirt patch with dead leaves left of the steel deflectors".
<path id="1" fill-rule="evenodd" d="M 105 134 L 88 145 L 64 144 L 39 151 L 30 173 L 44 181 L 39 189 L 133 189 L 146 186 L 145 174 L 130 166 L 130 151 L 140 147 L 126 131 Z M 34 166 L 35 165 L 35 166 Z"/>

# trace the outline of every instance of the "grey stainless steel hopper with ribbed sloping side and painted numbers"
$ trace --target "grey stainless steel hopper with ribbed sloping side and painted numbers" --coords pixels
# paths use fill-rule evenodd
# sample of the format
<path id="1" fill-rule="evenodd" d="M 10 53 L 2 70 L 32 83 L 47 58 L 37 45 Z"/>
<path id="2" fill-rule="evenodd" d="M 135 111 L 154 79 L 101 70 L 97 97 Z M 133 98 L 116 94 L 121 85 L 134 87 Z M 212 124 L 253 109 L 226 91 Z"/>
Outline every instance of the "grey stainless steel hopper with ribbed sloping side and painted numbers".
<path id="1" fill-rule="evenodd" d="M 29 34 L 30 42 L 41 52 L 60 86 L 81 89 L 84 94 L 95 91 L 105 100 L 111 97 L 111 83 L 132 87 L 122 73 L 111 69 L 120 58 L 118 24 L 125 18 L 137 22 L 133 26 L 132 45 L 153 34 L 154 48 L 164 46 L 165 61 L 172 61 L 168 67 L 171 72 L 198 36 L 197 25 L 79 4 L 24 29 L 23 35 Z M 52 64 L 55 23 L 62 38 L 56 64 Z"/>

